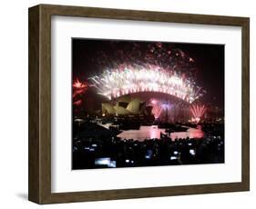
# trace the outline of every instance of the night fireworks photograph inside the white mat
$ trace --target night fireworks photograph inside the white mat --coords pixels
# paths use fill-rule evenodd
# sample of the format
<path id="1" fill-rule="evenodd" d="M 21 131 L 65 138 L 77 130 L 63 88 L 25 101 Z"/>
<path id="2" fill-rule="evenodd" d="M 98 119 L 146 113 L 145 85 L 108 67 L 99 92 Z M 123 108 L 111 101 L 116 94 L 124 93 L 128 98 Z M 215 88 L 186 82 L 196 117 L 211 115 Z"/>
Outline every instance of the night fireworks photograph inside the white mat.
<path id="1" fill-rule="evenodd" d="M 73 170 L 225 163 L 225 45 L 71 45 Z"/>

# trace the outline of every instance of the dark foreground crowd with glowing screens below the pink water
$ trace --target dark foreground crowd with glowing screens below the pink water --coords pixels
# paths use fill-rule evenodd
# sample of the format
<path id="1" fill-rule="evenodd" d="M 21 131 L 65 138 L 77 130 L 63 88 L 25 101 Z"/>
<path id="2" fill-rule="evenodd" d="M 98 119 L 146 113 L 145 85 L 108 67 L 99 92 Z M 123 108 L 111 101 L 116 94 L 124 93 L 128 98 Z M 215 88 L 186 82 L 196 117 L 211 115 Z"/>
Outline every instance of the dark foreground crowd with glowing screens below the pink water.
<path id="1" fill-rule="evenodd" d="M 121 140 L 118 129 L 97 124 L 73 127 L 72 169 L 224 163 L 224 125 L 201 124 L 204 138 Z M 179 131 L 179 130 L 178 130 Z"/>

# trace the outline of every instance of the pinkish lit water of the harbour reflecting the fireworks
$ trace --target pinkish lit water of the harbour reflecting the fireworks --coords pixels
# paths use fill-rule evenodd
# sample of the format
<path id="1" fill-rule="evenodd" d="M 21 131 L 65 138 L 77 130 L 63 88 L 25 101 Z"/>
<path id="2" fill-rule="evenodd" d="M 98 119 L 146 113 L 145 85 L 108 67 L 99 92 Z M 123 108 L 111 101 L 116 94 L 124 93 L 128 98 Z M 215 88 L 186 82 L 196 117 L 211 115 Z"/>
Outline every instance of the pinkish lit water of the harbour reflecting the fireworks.
<path id="1" fill-rule="evenodd" d="M 157 138 L 160 139 L 160 134 L 166 134 L 164 128 L 159 128 L 157 125 L 140 126 L 139 130 L 128 130 L 118 134 L 121 139 L 134 139 L 144 141 L 145 139 Z M 172 140 L 176 138 L 202 138 L 204 132 L 197 128 L 189 128 L 186 132 L 174 132 L 169 135 Z"/>

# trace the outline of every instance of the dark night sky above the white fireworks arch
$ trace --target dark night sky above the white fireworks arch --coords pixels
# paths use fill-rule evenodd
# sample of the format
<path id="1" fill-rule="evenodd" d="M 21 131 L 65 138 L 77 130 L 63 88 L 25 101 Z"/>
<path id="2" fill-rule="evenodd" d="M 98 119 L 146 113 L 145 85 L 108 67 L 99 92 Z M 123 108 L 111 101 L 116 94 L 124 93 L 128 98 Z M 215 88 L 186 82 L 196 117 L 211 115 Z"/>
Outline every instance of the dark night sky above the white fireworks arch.
<path id="1" fill-rule="evenodd" d="M 72 40 L 73 80 L 87 81 L 122 65 L 159 65 L 192 77 L 206 90 L 200 102 L 224 106 L 224 45 L 124 40 Z"/>

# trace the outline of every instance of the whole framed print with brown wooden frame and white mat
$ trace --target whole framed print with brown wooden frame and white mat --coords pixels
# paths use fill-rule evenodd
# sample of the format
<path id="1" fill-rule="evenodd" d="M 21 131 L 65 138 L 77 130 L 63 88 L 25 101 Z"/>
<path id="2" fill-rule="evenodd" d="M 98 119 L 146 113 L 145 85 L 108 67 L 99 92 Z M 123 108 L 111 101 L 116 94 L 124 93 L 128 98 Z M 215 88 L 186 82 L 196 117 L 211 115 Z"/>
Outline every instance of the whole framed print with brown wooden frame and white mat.
<path id="1" fill-rule="evenodd" d="M 249 18 L 29 8 L 37 204 L 250 188 Z"/>

